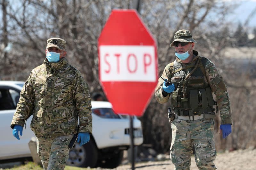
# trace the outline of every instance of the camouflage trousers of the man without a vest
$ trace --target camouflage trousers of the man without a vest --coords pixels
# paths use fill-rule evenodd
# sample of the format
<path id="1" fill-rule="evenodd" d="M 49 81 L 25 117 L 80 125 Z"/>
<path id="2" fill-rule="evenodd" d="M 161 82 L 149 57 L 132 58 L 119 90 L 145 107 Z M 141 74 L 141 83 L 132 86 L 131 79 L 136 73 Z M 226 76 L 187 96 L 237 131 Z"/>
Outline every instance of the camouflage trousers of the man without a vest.
<path id="1" fill-rule="evenodd" d="M 44 170 L 62 170 L 65 168 L 73 135 L 53 139 L 36 138 L 36 149 Z"/>

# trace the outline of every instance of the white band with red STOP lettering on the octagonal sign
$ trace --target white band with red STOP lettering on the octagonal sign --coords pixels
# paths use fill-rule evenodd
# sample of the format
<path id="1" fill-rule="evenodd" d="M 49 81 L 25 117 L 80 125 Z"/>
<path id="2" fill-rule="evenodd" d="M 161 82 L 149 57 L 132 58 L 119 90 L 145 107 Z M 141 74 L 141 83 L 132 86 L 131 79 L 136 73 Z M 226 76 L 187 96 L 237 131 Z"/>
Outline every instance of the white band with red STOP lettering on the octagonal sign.
<path id="1" fill-rule="evenodd" d="M 101 81 L 156 81 L 154 46 L 100 46 Z"/>

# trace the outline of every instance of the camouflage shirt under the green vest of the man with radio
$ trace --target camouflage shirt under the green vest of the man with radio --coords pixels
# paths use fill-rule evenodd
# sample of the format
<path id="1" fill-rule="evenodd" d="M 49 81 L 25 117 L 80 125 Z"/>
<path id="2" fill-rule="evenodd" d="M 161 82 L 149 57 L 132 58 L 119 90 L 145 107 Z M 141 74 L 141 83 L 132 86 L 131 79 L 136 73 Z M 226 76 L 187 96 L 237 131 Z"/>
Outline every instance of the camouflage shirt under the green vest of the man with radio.
<path id="1" fill-rule="evenodd" d="M 200 57 L 198 52 L 193 50 L 193 54 L 196 56 L 194 60 L 191 62 L 195 62 L 195 60 Z M 176 58 L 177 62 L 181 62 L 179 58 Z M 183 64 L 185 65 L 185 64 Z M 166 78 L 167 80 L 172 78 L 171 71 L 173 63 L 168 64 L 163 71 L 162 77 Z M 184 66 L 185 67 L 185 66 Z M 191 71 L 193 68 L 185 69 L 185 72 Z M 218 109 L 220 110 L 220 118 L 221 124 L 232 124 L 231 118 L 231 108 L 230 108 L 230 99 L 228 95 L 227 88 L 222 88 L 223 86 L 226 87 L 222 77 L 219 74 L 216 66 L 207 59 L 206 64 L 204 66 L 206 77 L 204 77 L 205 82 L 208 83 L 212 89 L 212 92 L 215 94 L 215 99 L 217 102 Z M 218 81 L 217 81 L 218 80 Z M 166 103 L 170 97 L 170 95 L 164 97 L 162 94 L 162 86 L 163 80 L 161 78 L 158 79 L 158 84 L 155 89 L 155 96 L 158 103 Z M 222 85 L 222 86 L 220 86 Z"/>

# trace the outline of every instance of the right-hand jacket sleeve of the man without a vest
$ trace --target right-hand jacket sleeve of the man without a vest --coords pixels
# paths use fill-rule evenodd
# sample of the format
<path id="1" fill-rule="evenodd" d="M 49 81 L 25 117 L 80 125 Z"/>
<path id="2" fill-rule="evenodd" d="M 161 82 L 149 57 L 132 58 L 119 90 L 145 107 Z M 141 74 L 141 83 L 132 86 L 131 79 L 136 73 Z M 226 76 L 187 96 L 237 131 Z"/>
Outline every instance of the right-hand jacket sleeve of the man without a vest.
<path id="1" fill-rule="evenodd" d="M 88 90 L 88 84 L 84 81 L 79 71 L 77 71 L 76 74 L 76 81 L 73 93 L 80 124 L 78 132 L 89 132 L 92 134 L 91 98 Z"/>

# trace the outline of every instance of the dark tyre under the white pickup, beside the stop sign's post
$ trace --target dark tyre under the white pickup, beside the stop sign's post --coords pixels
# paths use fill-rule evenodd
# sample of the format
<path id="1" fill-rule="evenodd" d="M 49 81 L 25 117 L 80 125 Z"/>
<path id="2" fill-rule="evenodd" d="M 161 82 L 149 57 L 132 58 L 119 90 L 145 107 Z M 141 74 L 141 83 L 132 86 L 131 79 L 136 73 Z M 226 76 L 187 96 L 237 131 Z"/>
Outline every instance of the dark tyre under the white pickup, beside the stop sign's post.
<path id="1" fill-rule="evenodd" d="M 119 166 L 123 160 L 124 151 L 119 151 L 115 155 L 110 158 L 105 159 L 102 161 L 99 166 L 102 168 L 116 168 Z"/>

